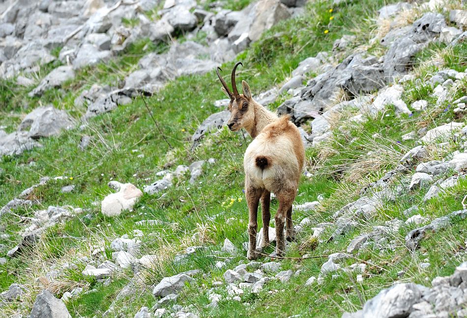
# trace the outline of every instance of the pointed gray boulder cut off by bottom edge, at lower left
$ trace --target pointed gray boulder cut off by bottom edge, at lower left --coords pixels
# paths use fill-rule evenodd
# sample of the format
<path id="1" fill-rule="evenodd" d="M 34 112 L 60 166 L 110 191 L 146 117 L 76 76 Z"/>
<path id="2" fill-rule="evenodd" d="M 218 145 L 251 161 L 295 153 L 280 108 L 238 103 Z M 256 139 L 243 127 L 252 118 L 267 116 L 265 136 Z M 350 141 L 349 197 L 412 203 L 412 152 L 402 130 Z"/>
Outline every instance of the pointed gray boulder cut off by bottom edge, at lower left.
<path id="1" fill-rule="evenodd" d="M 71 315 L 63 301 L 44 290 L 37 295 L 29 318 L 71 318 Z"/>

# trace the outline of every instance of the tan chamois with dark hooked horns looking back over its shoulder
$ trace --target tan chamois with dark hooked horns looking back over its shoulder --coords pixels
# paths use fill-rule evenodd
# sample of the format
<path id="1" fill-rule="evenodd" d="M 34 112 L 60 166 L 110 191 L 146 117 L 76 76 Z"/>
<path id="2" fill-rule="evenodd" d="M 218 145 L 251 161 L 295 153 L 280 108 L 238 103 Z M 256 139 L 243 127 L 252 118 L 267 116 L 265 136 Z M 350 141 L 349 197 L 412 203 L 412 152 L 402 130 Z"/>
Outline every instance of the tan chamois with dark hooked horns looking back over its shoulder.
<path id="1" fill-rule="evenodd" d="M 243 94 L 238 93 L 235 84 L 235 70 L 238 65 L 243 66 L 243 64 L 237 62 L 232 70 L 233 92 L 219 75 L 219 70 L 221 70 L 219 67 L 216 73 L 222 83 L 222 91 L 230 98 L 231 118 L 227 126 L 233 132 L 245 128 L 253 138 L 243 158 L 245 193 L 249 210 L 247 257 L 249 260 L 259 257 L 256 249 L 256 231 L 260 200 L 263 218 L 263 243 L 260 247 L 263 249 L 269 244 L 271 192 L 279 200 L 279 209 L 274 217 L 277 241 L 275 254 L 283 256 L 285 251 L 284 223 L 287 225 L 286 238 L 288 240 L 294 238 L 292 203 L 297 194 L 297 186 L 305 160 L 305 149 L 300 132 L 290 121 L 289 116 L 278 117 L 276 113 L 255 102 L 250 86 L 244 80 L 242 80 Z"/>

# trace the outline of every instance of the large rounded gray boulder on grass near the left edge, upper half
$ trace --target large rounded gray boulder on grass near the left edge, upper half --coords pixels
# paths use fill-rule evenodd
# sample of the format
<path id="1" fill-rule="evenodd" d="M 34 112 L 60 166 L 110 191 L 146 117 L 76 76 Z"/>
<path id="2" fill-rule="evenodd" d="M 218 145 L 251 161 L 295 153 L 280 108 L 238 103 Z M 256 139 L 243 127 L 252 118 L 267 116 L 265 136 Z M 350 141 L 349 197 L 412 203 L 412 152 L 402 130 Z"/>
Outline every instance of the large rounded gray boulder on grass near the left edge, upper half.
<path id="1" fill-rule="evenodd" d="M 38 139 L 56 135 L 61 130 L 72 127 L 73 122 L 66 111 L 48 106 L 34 119 L 28 135 L 32 139 Z"/>

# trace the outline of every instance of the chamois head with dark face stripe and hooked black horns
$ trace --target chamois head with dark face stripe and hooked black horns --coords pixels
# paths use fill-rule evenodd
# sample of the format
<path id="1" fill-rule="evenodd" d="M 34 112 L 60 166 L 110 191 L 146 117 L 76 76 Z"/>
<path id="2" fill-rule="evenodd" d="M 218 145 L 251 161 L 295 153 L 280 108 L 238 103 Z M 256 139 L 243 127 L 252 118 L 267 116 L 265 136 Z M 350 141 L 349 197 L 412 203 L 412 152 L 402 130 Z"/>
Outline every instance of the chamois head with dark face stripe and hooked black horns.
<path id="1" fill-rule="evenodd" d="M 254 104 L 255 102 L 251 98 L 251 91 L 250 86 L 246 83 L 246 81 L 242 80 L 242 89 L 243 94 L 238 94 L 237 86 L 235 84 L 235 70 L 238 65 L 243 66 L 241 62 L 237 62 L 232 70 L 232 89 L 234 92 L 229 90 L 227 83 L 225 80 L 219 75 L 220 67 L 216 69 L 217 77 L 222 83 L 222 91 L 227 97 L 230 98 L 229 102 L 229 110 L 231 112 L 231 117 L 227 122 L 227 126 L 233 132 L 236 132 L 243 127 L 252 127 L 255 124 L 255 110 Z M 221 70 L 222 71 L 222 70 Z"/>

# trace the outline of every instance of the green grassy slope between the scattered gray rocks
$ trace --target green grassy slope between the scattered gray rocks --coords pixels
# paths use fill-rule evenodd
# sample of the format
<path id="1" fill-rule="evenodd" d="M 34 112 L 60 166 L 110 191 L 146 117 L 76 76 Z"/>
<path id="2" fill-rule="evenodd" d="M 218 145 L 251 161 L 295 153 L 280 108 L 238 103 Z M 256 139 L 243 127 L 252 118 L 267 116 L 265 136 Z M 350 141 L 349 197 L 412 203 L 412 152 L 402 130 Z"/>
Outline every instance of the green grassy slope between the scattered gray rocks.
<path id="1" fill-rule="evenodd" d="M 333 12 L 329 12 L 331 6 L 328 2 L 310 4 L 305 16 L 280 23 L 264 34 L 251 49 L 237 57 L 246 67 L 239 73 L 239 78 L 246 79 L 254 92 L 263 91 L 282 82 L 302 59 L 314 56 L 320 51 L 330 51 L 333 41 L 342 34 L 365 29 L 365 33 L 356 33 L 357 43 L 367 43 L 376 35 L 376 26 L 370 18 L 382 4 L 383 1 L 363 0 L 357 1 L 356 4 L 333 8 Z M 331 16 L 334 16 L 334 19 L 330 22 Z M 355 16 L 362 17 L 361 21 L 358 21 L 359 25 L 355 25 L 350 19 Z M 324 34 L 326 29 L 330 32 Z M 83 109 L 76 109 L 73 106 L 74 97 L 93 82 L 117 85 L 118 79 L 124 78 L 135 65 L 138 58 L 134 55 L 141 53 L 143 46 L 135 46 L 134 50 L 128 53 L 133 58 L 123 56 L 116 61 L 113 68 L 105 68 L 102 65 L 95 69 L 84 70 L 77 79 L 65 85 L 64 92 L 51 90 L 40 99 L 25 99 L 23 95 L 30 88 L 15 92 L 12 83 L 4 82 L 0 90 L 1 103 L 4 105 L 2 111 L 18 114 L 22 112 L 22 105 L 26 102 L 29 103 L 29 107 L 52 102 L 79 117 Z M 377 45 L 369 49 L 375 53 L 379 50 Z M 467 54 L 466 44 L 459 45 L 452 51 L 442 47 L 430 47 L 424 54 L 420 54 L 420 60 L 430 59 L 440 52 L 447 67 L 465 69 L 462 60 L 463 58 L 465 60 Z M 228 63 L 224 67 L 229 69 L 231 66 L 232 64 Z M 418 74 L 425 79 L 427 74 L 429 76 L 433 71 L 435 69 L 421 65 Z M 428 89 L 416 89 L 412 83 L 405 85 L 408 92 L 404 98 L 408 105 L 411 101 L 427 97 L 430 93 Z M 318 275 L 322 260 L 285 260 L 282 262 L 283 269 L 302 270 L 298 277 L 292 278 L 286 284 L 270 282 L 258 295 L 247 292 L 242 296 L 242 302 L 247 302 L 249 305 L 234 300 L 224 300 L 220 302 L 219 309 L 206 309 L 205 306 L 209 301 L 204 291 L 211 287 L 213 280 L 222 280 L 225 269 L 214 269 L 216 260 L 206 256 L 210 254 L 209 251 L 197 253 L 191 257 L 191 262 L 184 265 L 174 264 L 172 256 L 190 245 L 205 244 L 214 250 L 218 249 L 226 237 L 238 248 L 241 248 L 241 243 L 247 240 L 246 204 L 241 199 L 243 198 L 242 155 L 246 149 L 243 137 L 223 130 L 218 135 L 207 137 L 199 148 L 191 151 L 190 136 L 205 117 L 217 111 L 213 102 L 223 98 L 218 86 L 218 81 L 211 72 L 204 76 L 179 78 L 169 83 L 154 97 L 148 98 L 156 120 L 164 134 L 170 136 L 169 141 L 174 149 L 169 149 L 155 129 L 142 100 L 136 99 L 128 106 L 91 120 L 84 131 L 75 129 L 64 132 L 59 137 L 41 140 L 44 146 L 41 149 L 35 149 L 21 157 L 3 158 L 0 163 L 2 169 L 0 170 L 0 205 L 26 187 L 37 183 L 41 176 L 64 175 L 73 179 L 58 180 L 38 187 L 33 196 L 41 198 L 41 204 L 16 212 L 19 215 L 30 216 L 34 210 L 49 205 L 66 204 L 83 207 L 89 211 L 65 224 L 49 229 L 39 246 L 20 258 L 2 265 L 0 290 L 6 289 L 12 282 L 30 286 L 31 277 L 35 278 L 47 273 L 48 269 L 44 268 L 45 265 L 62 264 L 70 259 L 89 255 L 92 251 L 91 244 L 105 243 L 108 246 L 113 238 L 129 234 L 133 229 L 140 229 L 145 234 L 142 238 L 143 254 L 157 254 L 165 260 L 153 271 L 146 273 L 148 285 L 158 282 L 163 276 L 181 270 L 200 268 L 206 273 L 211 273 L 212 278 L 199 277 L 191 288 L 182 292 L 178 301 L 184 306 L 193 304 L 206 317 L 287 317 L 294 314 L 313 317 L 337 316 L 342 310 L 359 308 L 364 299 L 396 280 L 413 280 L 428 284 L 437 275 L 449 274 L 460 259 L 465 258 L 458 252 L 461 250 L 459 246 L 464 246 L 463 242 L 466 240 L 464 231 L 466 221 L 459 221 L 448 230 L 424 240 L 420 250 L 413 255 L 409 254 L 403 244 L 403 238 L 410 227 L 403 227 L 399 236 L 394 238 L 398 242 L 395 251 L 366 252 L 359 256 L 365 261 L 371 259 L 376 264 L 368 266 L 364 275 L 364 284 L 356 283 L 352 274 L 351 279 L 346 276 L 336 279 L 327 277 L 322 285 L 305 288 L 303 283 L 306 279 Z M 466 94 L 465 83 L 456 92 L 455 97 L 463 94 Z M 280 100 L 274 106 L 279 105 Z M 333 212 L 358 197 L 361 185 L 377 180 L 386 169 L 396 165 L 394 158 L 414 146 L 412 141 L 404 142 L 403 145 L 397 143 L 401 140 L 402 134 L 426 125 L 432 128 L 454 118 L 449 109 L 446 112 L 442 111 L 447 105 L 435 107 L 433 100 L 429 102 L 429 111 L 415 114 L 410 118 L 399 117 L 393 111 L 389 111 L 386 112 L 386 116 L 377 116 L 378 119 L 372 119 L 363 126 L 350 127 L 350 133 L 336 130 L 336 137 L 330 146 L 307 151 L 310 165 L 318 164 L 321 169 L 315 177 L 303 180 L 296 201 L 313 201 L 319 194 L 324 194 L 326 198 L 322 211 L 308 215 L 313 219 L 313 225 L 330 221 Z M 462 118 L 456 120 L 464 121 Z M 13 125 L 17 125 L 19 121 L 20 117 L 2 116 L 0 124 L 10 125 L 8 129 L 11 131 Z M 372 135 L 376 132 L 381 137 L 374 139 Z M 82 134 L 89 134 L 93 138 L 92 146 L 85 152 L 77 147 Z M 376 169 L 355 169 L 359 164 L 363 166 L 363 159 L 368 151 L 374 148 L 375 142 L 380 148 L 385 146 L 383 150 L 392 149 L 392 151 L 384 152 L 387 158 L 378 161 Z M 456 144 L 451 145 L 452 150 L 457 147 Z M 330 149 L 332 151 L 329 151 Z M 144 158 L 139 158 L 140 154 L 144 154 Z M 436 153 L 433 156 L 443 157 L 442 154 Z M 204 174 L 198 180 L 198 184 L 189 185 L 187 176 L 180 178 L 164 197 L 144 195 L 132 212 L 125 212 L 116 218 L 106 218 L 99 212 L 99 208 L 92 205 L 93 201 L 101 200 L 111 192 L 106 185 L 110 180 L 131 182 L 142 188 L 143 185 L 159 179 L 155 173 L 164 167 L 173 170 L 177 164 L 208 158 L 215 158 L 216 164 L 204 166 Z M 32 161 L 35 162 L 34 165 L 29 164 Z M 358 173 L 362 174 L 362 178 L 350 178 Z M 75 185 L 76 190 L 69 194 L 60 193 L 61 186 L 68 184 Z M 466 185 L 467 183 L 463 182 L 453 188 L 449 195 L 433 199 L 427 204 L 422 203 L 426 190 L 404 194 L 398 198 L 397 204 L 385 205 L 375 219 L 361 220 L 360 227 L 346 236 L 331 243 L 320 243 L 314 250 L 308 248 L 298 251 L 299 246 L 292 245 L 288 255 L 317 256 L 343 251 L 351 238 L 363 231 L 371 231 L 373 225 L 380 225 L 393 217 L 404 219 L 402 211 L 413 204 L 423 206 L 421 214 L 428 217 L 458 210 L 461 208 L 460 201 Z M 224 208 L 222 202 L 226 200 L 230 202 L 231 197 L 235 199 L 234 203 Z M 276 208 L 277 203 L 272 205 L 273 211 Z M 88 213 L 91 215 L 90 218 L 85 216 Z M 222 213 L 222 216 L 215 221 L 205 217 L 218 213 Z M 303 216 L 305 216 L 303 213 L 295 213 L 293 217 L 295 220 L 300 220 Z M 232 217 L 235 219 L 227 222 L 227 219 Z M 153 218 L 167 221 L 167 224 L 154 227 L 134 224 L 141 219 Z M 7 233 L 15 235 L 18 221 L 17 217 L 3 218 L 0 226 L 4 227 Z M 300 234 L 299 242 L 305 241 L 312 234 L 310 231 L 306 229 Z M 201 233 L 203 238 L 201 241 L 191 238 L 196 232 Z M 331 232 L 331 229 L 326 230 L 323 238 L 328 237 Z M 10 240 L 1 240 L 0 243 L 11 248 L 15 241 L 16 238 L 13 237 Z M 110 251 L 107 251 L 107 255 L 109 254 Z M 428 270 L 420 270 L 417 267 L 418 263 L 427 258 L 432 266 Z M 237 256 L 229 267 L 233 267 L 239 261 L 245 261 L 245 256 Z M 354 262 L 356 261 L 352 260 L 349 264 Z M 70 270 L 59 277 L 58 281 L 62 284 L 57 284 L 58 296 L 70 290 L 72 288 L 70 286 L 88 283 L 80 274 L 82 267 L 83 265 L 80 264 L 77 270 Z M 397 276 L 400 270 L 406 271 L 402 278 Z M 116 279 L 109 287 L 90 282 L 91 292 L 68 302 L 70 312 L 74 317 L 78 315 L 99 317 L 99 313 L 107 310 L 110 302 L 129 277 L 131 273 L 128 272 L 126 276 Z M 270 290 L 277 291 L 271 294 L 268 292 Z M 29 295 L 31 298 L 25 300 L 26 307 L 30 307 L 36 291 L 38 291 L 37 287 L 33 288 L 33 292 Z M 142 305 L 150 307 L 156 301 L 150 294 L 150 288 L 141 289 L 139 293 L 141 297 L 122 300 L 122 304 L 127 306 L 128 316 L 134 314 Z M 225 295 L 225 288 L 219 289 L 218 293 Z M 0 310 L 8 313 L 8 310 L 15 308 L 16 305 L 13 304 L 7 309 Z"/>

